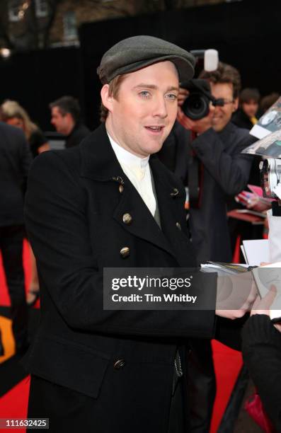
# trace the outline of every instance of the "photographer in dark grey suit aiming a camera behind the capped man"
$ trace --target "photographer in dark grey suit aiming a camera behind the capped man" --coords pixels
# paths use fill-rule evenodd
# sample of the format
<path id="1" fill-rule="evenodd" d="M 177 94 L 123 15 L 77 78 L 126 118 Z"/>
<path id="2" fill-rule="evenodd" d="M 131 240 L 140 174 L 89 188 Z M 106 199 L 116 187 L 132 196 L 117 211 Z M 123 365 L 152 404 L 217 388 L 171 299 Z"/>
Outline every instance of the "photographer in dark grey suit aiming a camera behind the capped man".
<path id="1" fill-rule="evenodd" d="M 210 83 L 212 95 L 222 98 L 224 105 L 210 105 L 206 117 L 191 120 L 181 110 L 188 91 L 180 92 L 178 122 L 192 135 L 185 176 L 190 233 L 201 263 L 208 260 L 231 262 L 226 204 L 247 184 L 252 158 L 241 151 L 252 139 L 248 130 L 231 123 L 239 104 L 239 71 L 220 62 L 217 70 L 202 71 L 199 78 Z M 180 140 L 186 133 L 178 128 L 178 134 Z M 210 340 L 192 340 L 190 346 L 191 427 L 194 432 L 207 432 L 216 393 L 212 347 Z"/>

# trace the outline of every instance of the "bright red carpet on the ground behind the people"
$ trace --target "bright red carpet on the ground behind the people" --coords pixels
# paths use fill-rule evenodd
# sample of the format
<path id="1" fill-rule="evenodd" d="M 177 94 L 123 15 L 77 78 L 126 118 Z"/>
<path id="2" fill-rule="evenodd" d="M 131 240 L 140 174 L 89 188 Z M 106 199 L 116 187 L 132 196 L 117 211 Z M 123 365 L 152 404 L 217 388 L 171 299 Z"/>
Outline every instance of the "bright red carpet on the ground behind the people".
<path id="1" fill-rule="evenodd" d="M 30 281 L 30 258 L 28 243 L 24 244 L 24 267 L 25 267 L 25 286 L 28 287 Z M 1 260 L 1 258 L 0 258 Z M 4 272 L 0 262 L 0 306 L 8 306 L 9 298 L 8 291 L 6 288 L 6 283 L 4 279 Z M 6 319 L 7 320 L 7 319 Z M 0 321 L 3 324 L 5 319 Z M 8 328 L 8 326 L 6 326 Z M 4 333 L 4 330 L 3 330 Z M 10 342 L 13 347 L 13 342 Z M 12 350 L 11 350 L 12 351 Z M 226 408 L 229 397 L 231 396 L 231 391 L 236 381 L 236 377 L 241 369 L 242 360 L 241 353 L 236 352 L 236 350 L 231 350 L 229 347 L 222 345 L 217 341 L 213 341 L 213 351 L 214 351 L 214 368 L 217 377 L 217 398 L 214 404 L 214 412 L 212 419 L 211 433 L 216 433 L 219 426 L 219 422 L 222 419 L 222 415 Z M 11 355 L 10 355 L 11 356 Z M 1 359 L 0 362 L 4 361 Z M 14 386 L 11 391 L 6 393 L 0 398 L 0 418 L 4 417 L 18 417 L 24 418 L 27 412 L 28 404 L 28 392 L 29 392 L 29 379 L 24 379 L 16 386 Z M 0 430 L 2 431 L 2 429 Z M 3 430 L 6 431 L 6 430 Z M 9 430 L 10 432 L 17 431 L 23 432 L 23 429 Z"/>

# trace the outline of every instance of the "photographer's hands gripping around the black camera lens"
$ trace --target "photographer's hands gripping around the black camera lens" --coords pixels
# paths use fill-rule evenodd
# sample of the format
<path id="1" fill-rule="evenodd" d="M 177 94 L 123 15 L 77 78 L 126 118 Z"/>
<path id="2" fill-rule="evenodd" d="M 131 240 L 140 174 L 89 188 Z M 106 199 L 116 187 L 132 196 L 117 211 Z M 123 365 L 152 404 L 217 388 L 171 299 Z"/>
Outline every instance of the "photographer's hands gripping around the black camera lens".
<path id="1" fill-rule="evenodd" d="M 189 129 L 190 131 L 197 132 L 197 134 L 202 134 L 202 132 L 207 131 L 210 127 L 212 127 L 212 117 L 214 115 L 214 106 L 210 103 L 210 111 L 209 114 L 203 117 L 200 120 L 192 120 L 189 117 L 185 116 L 181 106 L 183 105 L 185 99 L 188 97 L 189 92 L 185 88 L 180 87 L 180 91 L 178 93 L 178 117 L 177 120 L 180 122 L 180 125 L 183 125 L 185 129 Z"/>

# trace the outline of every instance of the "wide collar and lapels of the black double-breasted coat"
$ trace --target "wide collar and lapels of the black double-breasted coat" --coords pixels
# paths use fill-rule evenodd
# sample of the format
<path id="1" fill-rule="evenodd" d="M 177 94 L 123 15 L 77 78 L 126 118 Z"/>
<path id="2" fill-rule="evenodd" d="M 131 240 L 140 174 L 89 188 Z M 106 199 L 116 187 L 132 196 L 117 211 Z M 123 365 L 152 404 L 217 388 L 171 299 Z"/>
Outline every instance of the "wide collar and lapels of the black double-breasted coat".
<path id="1" fill-rule="evenodd" d="M 178 245 L 175 244 L 178 236 L 176 228 L 178 215 L 173 203 L 173 200 L 182 198 L 179 181 L 175 181 L 172 173 L 163 166 L 159 158 L 151 155 L 149 166 L 154 177 L 162 230 L 159 229 L 139 193 L 122 171 L 106 134 L 105 125 L 101 125 L 84 139 L 80 145 L 80 151 L 81 177 L 97 181 L 113 180 L 124 184 L 124 192 L 120 195 L 120 202 L 115 208 L 113 218 L 122 225 L 123 229 L 166 250 L 176 258 L 180 265 L 183 265 L 179 257 L 181 251 L 178 250 L 178 253 L 176 251 L 178 249 Z M 125 213 L 130 213 L 133 219 L 133 223 L 127 226 L 122 221 Z"/>

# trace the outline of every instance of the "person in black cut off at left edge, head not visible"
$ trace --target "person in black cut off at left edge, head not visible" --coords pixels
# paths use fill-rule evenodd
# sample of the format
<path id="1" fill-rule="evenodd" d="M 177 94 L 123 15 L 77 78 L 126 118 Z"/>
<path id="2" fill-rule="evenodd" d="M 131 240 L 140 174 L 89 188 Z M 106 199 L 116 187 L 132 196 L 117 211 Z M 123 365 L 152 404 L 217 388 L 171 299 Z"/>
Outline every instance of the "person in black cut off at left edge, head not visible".
<path id="1" fill-rule="evenodd" d="M 11 299 L 16 353 L 23 354 L 28 347 L 28 307 L 23 272 L 23 194 L 32 156 L 21 129 L 4 122 L 0 122 L 0 156 L 0 250 Z"/>

